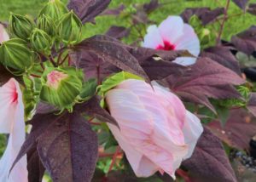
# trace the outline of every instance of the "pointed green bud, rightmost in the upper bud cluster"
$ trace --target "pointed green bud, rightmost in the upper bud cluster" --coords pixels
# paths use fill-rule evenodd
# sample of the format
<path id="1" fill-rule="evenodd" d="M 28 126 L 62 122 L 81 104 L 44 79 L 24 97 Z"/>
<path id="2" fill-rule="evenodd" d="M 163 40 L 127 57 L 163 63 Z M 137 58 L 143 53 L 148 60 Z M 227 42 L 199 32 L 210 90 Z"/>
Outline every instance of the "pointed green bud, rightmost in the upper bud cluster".
<path id="1" fill-rule="evenodd" d="M 82 22 L 79 17 L 73 13 L 73 10 L 62 16 L 61 22 L 58 25 L 58 31 L 61 41 L 66 45 L 79 43 L 82 32 Z"/>

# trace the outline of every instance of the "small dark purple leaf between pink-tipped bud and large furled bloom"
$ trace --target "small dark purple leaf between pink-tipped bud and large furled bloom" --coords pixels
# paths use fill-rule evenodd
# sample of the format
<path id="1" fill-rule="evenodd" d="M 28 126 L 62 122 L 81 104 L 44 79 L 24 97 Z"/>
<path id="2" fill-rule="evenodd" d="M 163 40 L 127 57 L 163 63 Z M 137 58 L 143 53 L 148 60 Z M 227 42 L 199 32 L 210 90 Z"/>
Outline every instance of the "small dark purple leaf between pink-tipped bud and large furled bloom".
<path id="1" fill-rule="evenodd" d="M 101 107 L 100 100 L 96 96 L 92 97 L 90 100 L 80 105 L 76 105 L 75 111 L 85 112 L 91 117 L 96 117 L 102 122 L 109 122 L 118 126 L 118 123 L 115 121 L 113 117 L 111 117 L 108 111 L 104 110 Z"/>

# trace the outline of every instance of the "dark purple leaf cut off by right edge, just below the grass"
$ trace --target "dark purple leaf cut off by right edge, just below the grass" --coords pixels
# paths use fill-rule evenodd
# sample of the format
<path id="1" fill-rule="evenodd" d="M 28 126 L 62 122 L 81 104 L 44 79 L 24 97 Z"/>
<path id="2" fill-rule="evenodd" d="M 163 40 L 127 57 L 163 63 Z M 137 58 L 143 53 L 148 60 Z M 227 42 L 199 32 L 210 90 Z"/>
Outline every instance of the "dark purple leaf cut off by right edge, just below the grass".
<path id="1" fill-rule="evenodd" d="M 248 55 L 252 54 L 256 50 L 256 26 L 251 26 L 248 30 L 233 36 L 231 43 L 237 50 Z"/>

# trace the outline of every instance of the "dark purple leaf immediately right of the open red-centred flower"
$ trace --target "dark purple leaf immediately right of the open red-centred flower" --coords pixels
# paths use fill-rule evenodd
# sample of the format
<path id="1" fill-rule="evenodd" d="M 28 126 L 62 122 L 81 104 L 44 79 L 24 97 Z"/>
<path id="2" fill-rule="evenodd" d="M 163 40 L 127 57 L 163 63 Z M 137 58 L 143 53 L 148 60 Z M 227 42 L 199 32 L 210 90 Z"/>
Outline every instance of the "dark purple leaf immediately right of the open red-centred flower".
<path id="1" fill-rule="evenodd" d="M 236 60 L 236 57 L 230 52 L 229 48 L 218 46 L 206 48 L 201 53 L 202 57 L 208 57 L 217 61 L 220 65 L 224 65 L 230 70 L 235 71 L 238 75 L 241 75 L 240 65 Z"/>

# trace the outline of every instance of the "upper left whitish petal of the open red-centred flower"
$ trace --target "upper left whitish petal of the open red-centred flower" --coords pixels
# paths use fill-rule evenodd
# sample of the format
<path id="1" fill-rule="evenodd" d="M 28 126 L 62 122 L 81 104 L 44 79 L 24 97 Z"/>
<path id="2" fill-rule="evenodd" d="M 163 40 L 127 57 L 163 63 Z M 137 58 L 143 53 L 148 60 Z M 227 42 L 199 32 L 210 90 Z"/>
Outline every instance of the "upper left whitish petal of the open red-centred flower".
<path id="1" fill-rule="evenodd" d="M 157 26 L 148 26 L 147 35 L 144 37 L 143 47 L 157 48 L 159 45 L 164 46 L 160 31 Z"/>

